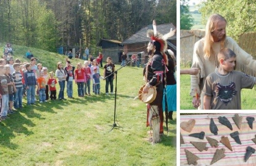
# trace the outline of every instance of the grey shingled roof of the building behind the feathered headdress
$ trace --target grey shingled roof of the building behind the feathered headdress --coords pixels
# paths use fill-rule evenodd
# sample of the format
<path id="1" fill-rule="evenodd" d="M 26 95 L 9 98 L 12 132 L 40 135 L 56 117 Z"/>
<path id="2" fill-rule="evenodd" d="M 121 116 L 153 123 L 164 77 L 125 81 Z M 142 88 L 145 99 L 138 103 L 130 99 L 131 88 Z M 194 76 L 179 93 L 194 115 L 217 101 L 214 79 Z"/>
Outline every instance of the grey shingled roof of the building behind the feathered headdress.
<path id="1" fill-rule="evenodd" d="M 160 32 L 161 34 L 167 34 L 170 32 L 170 29 L 175 30 L 176 27 L 172 23 L 167 23 L 167 24 L 161 24 L 157 25 L 157 31 Z M 149 41 L 149 38 L 147 37 L 147 30 L 151 30 L 152 25 L 147 25 L 146 27 L 143 27 L 141 30 L 136 32 L 134 35 L 132 35 L 130 38 L 124 40 L 122 44 L 134 44 L 134 43 L 145 43 Z M 176 34 L 173 35 L 172 37 L 168 38 L 168 40 L 171 39 L 176 39 Z"/>

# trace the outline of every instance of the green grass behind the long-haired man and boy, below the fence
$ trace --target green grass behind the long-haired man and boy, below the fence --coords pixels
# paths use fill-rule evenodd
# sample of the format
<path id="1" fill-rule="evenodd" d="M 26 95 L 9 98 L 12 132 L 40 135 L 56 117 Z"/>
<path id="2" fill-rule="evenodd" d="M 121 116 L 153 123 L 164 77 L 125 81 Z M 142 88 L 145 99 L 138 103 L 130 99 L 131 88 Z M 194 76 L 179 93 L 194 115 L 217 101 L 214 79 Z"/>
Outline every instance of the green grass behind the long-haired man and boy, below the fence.
<path id="1" fill-rule="evenodd" d="M 181 69 L 189 68 L 181 66 Z M 195 109 L 192 104 L 192 97 L 190 96 L 190 75 L 181 75 L 180 76 L 180 103 L 181 109 Z M 256 96 L 255 96 L 255 87 L 251 89 L 242 89 L 241 91 L 241 106 L 242 109 L 255 109 L 256 107 Z"/>

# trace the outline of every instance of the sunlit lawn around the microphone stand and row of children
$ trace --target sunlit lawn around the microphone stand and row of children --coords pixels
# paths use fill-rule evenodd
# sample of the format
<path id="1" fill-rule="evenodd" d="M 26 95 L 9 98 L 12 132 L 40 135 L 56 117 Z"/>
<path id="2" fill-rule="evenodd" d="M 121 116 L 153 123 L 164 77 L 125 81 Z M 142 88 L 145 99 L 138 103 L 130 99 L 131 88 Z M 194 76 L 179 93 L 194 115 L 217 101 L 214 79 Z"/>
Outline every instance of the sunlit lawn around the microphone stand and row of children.
<path id="1" fill-rule="evenodd" d="M 49 71 L 56 70 L 57 62 L 65 62 L 57 53 L 18 45 L 13 48 L 14 59 L 22 61 L 31 49 Z M 78 62 L 83 61 L 72 60 L 71 64 Z M 22 110 L 0 123 L 1 165 L 176 165 L 176 114 L 168 123 L 169 134 L 164 125 L 162 142 L 151 145 L 146 141 L 146 105 L 134 100 L 143 85 L 142 68 L 126 66 L 118 70 L 117 79 L 116 123 L 120 128 L 111 131 L 114 95 L 78 98 L 73 84 L 75 99 L 37 101 L 27 106 L 23 98 Z M 104 93 L 104 80 L 100 86 Z"/>

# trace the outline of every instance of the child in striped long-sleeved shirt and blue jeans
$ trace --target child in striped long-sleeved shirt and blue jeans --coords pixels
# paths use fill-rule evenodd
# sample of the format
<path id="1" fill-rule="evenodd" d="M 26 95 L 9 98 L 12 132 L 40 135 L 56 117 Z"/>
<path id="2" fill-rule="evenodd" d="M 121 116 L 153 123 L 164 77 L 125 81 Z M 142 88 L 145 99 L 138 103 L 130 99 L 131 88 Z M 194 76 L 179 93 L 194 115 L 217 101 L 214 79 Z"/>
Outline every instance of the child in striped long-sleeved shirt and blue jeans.
<path id="1" fill-rule="evenodd" d="M 22 74 L 20 73 L 20 65 L 18 63 L 14 63 L 13 67 L 15 69 L 15 72 L 12 73 L 13 79 L 14 79 L 14 86 L 16 88 L 16 93 L 14 96 L 14 108 L 22 108 Z"/>

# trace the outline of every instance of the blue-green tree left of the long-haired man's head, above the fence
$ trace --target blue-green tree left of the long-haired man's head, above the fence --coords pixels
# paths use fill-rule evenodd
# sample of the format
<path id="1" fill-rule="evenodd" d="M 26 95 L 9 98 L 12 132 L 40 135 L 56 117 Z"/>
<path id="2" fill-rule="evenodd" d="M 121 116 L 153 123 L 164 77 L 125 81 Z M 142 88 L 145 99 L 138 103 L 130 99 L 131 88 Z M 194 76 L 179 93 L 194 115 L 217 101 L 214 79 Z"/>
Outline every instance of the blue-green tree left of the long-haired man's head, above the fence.
<path id="1" fill-rule="evenodd" d="M 182 5 L 183 4 L 183 5 Z M 181 30 L 190 30 L 191 27 L 194 25 L 194 19 L 192 18 L 192 15 L 189 14 L 189 6 L 185 5 L 184 3 L 182 3 L 180 5 L 180 9 L 181 9 Z"/>

